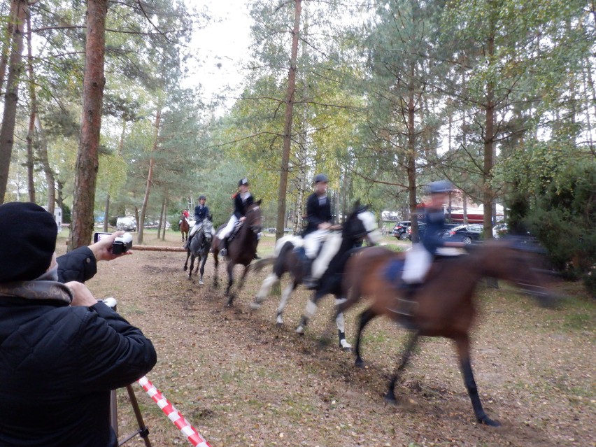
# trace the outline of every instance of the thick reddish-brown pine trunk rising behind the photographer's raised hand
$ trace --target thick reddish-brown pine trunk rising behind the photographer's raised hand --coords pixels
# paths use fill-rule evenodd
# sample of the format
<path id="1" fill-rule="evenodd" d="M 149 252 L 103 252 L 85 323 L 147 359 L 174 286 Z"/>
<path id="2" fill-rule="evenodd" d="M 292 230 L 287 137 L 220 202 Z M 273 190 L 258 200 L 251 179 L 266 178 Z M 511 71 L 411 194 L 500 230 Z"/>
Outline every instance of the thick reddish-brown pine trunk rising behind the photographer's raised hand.
<path id="1" fill-rule="evenodd" d="M 83 117 L 76 159 L 73 221 L 69 250 L 86 246 L 93 233 L 95 185 L 99 169 L 99 131 L 104 99 L 107 0 L 87 0 L 87 42 L 83 79 Z"/>

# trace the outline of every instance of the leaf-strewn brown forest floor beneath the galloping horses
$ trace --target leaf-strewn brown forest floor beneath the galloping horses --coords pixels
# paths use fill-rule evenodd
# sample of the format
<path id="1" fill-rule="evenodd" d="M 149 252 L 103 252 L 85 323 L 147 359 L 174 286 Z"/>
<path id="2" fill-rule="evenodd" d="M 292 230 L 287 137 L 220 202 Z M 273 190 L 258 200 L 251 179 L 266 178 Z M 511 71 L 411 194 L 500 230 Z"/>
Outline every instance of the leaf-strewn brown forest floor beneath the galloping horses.
<path id="1" fill-rule="evenodd" d="M 59 236 L 59 254 L 65 239 Z M 385 242 L 409 244 L 390 236 Z M 181 246 L 180 234 L 160 241 L 146 231 L 145 243 Z M 259 254 L 273 247 L 266 235 Z M 99 263 L 87 285 L 98 298 L 115 297 L 118 312 L 152 340 L 158 362 L 148 379 L 213 447 L 596 446 L 596 306 L 579 283 L 555 285 L 568 299 L 554 311 L 506 285 L 479 291 L 472 366 L 486 413 L 502 423 L 495 428 L 476 423 L 450 341 L 425 339 L 396 388 L 399 403 L 390 406 L 383 395 L 404 329 L 384 318 L 371 322 L 362 341 L 367 367 L 357 369 L 336 343 L 319 346 L 331 297 L 299 336 L 306 290 L 297 290 L 285 325 L 276 327 L 278 297 L 250 311 L 268 271 L 248 276 L 227 308 L 223 289 L 213 288 L 213 258 L 205 285 L 187 278 L 184 262 L 185 253 L 136 250 Z M 363 308 L 346 315 L 350 342 Z M 152 446 L 190 446 L 139 385 L 133 388 Z M 118 416 L 122 439 L 136 429 L 124 389 Z M 125 445 L 144 443 L 136 437 Z"/>

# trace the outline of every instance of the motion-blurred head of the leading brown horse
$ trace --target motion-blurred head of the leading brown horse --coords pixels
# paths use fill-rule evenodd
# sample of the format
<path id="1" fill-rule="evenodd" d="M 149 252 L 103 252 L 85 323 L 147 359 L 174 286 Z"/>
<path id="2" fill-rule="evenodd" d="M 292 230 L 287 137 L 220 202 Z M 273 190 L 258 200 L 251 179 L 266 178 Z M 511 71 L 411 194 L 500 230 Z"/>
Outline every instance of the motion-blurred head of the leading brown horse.
<path id="1" fill-rule="evenodd" d="M 518 238 L 490 240 L 478 252 L 478 267 L 483 276 L 509 281 L 520 290 L 535 297 L 541 306 L 553 307 L 557 297 L 544 287 L 544 269 L 539 268 L 544 249 L 524 243 Z M 473 253 L 474 255 L 474 253 Z"/>

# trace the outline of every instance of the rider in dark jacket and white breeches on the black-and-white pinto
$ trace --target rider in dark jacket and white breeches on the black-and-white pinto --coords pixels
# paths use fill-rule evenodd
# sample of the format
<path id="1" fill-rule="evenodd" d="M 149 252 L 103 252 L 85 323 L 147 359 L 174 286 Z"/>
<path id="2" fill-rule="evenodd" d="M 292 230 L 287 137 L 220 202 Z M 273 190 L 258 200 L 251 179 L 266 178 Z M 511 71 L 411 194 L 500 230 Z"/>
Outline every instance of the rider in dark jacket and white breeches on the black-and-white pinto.
<path id="1" fill-rule="evenodd" d="M 331 204 L 327 198 L 327 176 L 320 173 L 315 176 L 315 191 L 306 199 L 306 221 L 308 224 L 302 232 L 304 239 L 304 280 L 306 288 L 315 288 L 320 276 L 325 273 L 320 271 L 320 266 L 315 258 L 318 255 L 320 244 L 325 241 L 331 227 Z M 314 261 L 313 261 L 314 260 Z"/>

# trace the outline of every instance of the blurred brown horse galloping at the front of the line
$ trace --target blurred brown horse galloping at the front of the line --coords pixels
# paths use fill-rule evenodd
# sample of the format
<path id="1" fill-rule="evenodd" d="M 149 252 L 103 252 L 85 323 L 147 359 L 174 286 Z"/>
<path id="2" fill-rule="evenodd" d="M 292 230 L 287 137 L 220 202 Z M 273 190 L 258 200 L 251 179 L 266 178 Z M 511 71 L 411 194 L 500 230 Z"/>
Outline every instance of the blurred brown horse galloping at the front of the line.
<path id="1" fill-rule="evenodd" d="M 345 312 L 360 297 L 369 297 L 371 306 L 360 314 L 360 324 L 355 342 L 356 364 L 362 366 L 360 336 L 367 323 L 378 315 L 388 315 L 397 322 L 405 323 L 412 330 L 395 375 L 392 377 L 385 400 L 395 403 L 395 383 L 404 370 L 413 348 L 420 336 L 443 336 L 455 341 L 464 383 L 471 399 L 476 419 L 486 425 L 500 425 L 486 416 L 470 362 L 469 332 L 476 316 L 474 289 L 483 277 L 510 281 L 547 306 L 554 298 L 541 287 L 537 269 L 532 268 L 535 250 L 523 248 L 514 241 L 486 241 L 468 255 L 453 260 L 435 262 L 427 281 L 414 293 L 412 301 L 406 301 L 411 316 L 404 317 L 404 301 L 399 300 L 401 289 L 390 276 L 399 276 L 392 265 L 399 263 L 404 255 L 381 247 L 364 248 L 348 260 L 343 280 L 347 300 L 337 306 L 336 312 Z M 397 264 L 399 265 L 399 264 Z M 392 273 L 390 273 L 392 272 Z M 413 304 L 412 304 L 413 303 Z M 405 318 L 405 320 L 404 320 Z"/>

